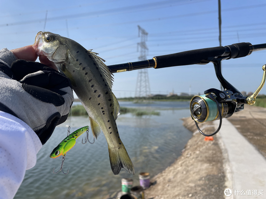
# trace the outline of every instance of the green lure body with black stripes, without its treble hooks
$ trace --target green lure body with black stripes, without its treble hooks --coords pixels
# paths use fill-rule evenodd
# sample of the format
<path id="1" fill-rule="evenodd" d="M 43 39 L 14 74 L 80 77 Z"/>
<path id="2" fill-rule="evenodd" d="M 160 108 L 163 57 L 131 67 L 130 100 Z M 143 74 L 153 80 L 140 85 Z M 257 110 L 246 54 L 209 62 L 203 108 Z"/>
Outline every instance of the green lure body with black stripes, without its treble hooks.
<path id="1" fill-rule="evenodd" d="M 82 127 L 73 133 L 71 133 L 69 136 L 65 137 L 62 142 L 60 142 L 59 145 L 57 145 L 56 148 L 53 149 L 52 153 L 50 154 L 50 158 L 57 158 L 60 155 L 64 155 L 66 152 L 68 152 L 72 147 L 76 144 L 76 139 L 82 135 L 82 133 L 89 130 L 89 126 Z"/>

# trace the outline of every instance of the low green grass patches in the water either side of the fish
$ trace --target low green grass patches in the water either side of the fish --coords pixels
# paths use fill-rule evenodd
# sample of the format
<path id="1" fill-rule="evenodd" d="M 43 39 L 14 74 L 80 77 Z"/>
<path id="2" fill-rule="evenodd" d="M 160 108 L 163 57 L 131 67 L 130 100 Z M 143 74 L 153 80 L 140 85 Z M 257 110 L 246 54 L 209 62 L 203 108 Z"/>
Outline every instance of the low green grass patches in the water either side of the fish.
<path id="1" fill-rule="evenodd" d="M 160 115 L 160 112 L 146 109 L 138 109 L 138 108 L 127 108 L 120 107 L 120 114 L 131 113 L 135 116 L 143 116 L 143 115 Z M 72 106 L 72 115 L 73 116 L 86 116 L 88 115 L 87 111 L 82 105 Z"/>

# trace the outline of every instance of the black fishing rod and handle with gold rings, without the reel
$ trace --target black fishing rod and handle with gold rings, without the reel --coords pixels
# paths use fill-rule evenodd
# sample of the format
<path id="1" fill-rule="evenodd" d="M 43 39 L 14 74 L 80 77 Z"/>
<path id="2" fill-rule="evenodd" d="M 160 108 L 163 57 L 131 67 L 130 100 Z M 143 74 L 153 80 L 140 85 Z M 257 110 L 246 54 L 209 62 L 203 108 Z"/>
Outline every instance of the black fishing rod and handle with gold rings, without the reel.
<path id="1" fill-rule="evenodd" d="M 152 59 L 115 64 L 108 66 L 112 73 L 132 71 L 142 68 L 165 68 L 191 64 L 207 64 L 217 59 L 231 59 L 250 55 L 253 51 L 265 50 L 266 44 L 252 45 L 250 43 L 237 43 L 228 46 L 189 50 L 169 55 L 161 55 Z"/>

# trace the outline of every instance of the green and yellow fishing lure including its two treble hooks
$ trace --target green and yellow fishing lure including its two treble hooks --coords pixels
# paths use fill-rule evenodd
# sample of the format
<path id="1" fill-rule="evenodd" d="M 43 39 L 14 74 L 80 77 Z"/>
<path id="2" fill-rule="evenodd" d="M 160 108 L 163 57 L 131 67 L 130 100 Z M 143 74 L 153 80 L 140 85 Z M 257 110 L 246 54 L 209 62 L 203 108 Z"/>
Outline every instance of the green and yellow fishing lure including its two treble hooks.
<path id="1" fill-rule="evenodd" d="M 72 147 L 76 144 L 76 139 L 80 135 L 82 135 L 84 132 L 87 133 L 87 137 L 85 138 L 84 143 L 83 143 L 83 138 L 82 138 L 82 144 L 87 143 L 87 141 L 89 141 L 89 139 L 88 139 L 89 126 L 85 126 L 85 127 L 82 127 L 80 129 L 74 131 L 69 136 L 67 136 L 62 142 L 60 142 L 60 144 L 56 148 L 53 149 L 52 153 L 50 154 L 50 158 L 57 158 L 60 155 L 63 155 L 60 169 L 57 172 L 55 172 L 55 167 L 53 168 L 54 174 L 58 173 L 59 171 L 62 171 L 63 174 L 68 174 L 68 171 L 67 171 L 67 173 L 64 173 L 64 171 L 63 171 L 63 164 L 64 164 L 66 152 L 68 152 L 70 149 L 72 149 Z M 90 142 L 90 143 L 91 144 L 94 143 L 94 138 L 93 138 L 93 142 Z"/>

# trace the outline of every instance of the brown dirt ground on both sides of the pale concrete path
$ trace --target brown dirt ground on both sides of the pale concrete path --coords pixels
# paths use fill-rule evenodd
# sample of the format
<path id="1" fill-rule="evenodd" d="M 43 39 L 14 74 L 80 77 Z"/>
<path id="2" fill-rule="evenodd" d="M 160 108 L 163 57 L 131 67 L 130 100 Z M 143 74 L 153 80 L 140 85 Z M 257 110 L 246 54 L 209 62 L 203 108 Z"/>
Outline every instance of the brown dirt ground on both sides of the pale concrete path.
<path id="1" fill-rule="evenodd" d="M 266 108 L 245 105 L 243 111 L 228 119 L 266 158 L 265 113 Z M 191 118 L 183 121 L 186 128 L 197 132 Z M 206 133 L 215 131 L 212 122 L 199 126 Z M 151 179 L 152 185 L 144 191 L 145 199 L 225 198 L 224 159 L 218 144 L 219 135 L 213 137 L 213 141 L 204 141 L 205 136 L 193 133 L 182 155 Z"/>

